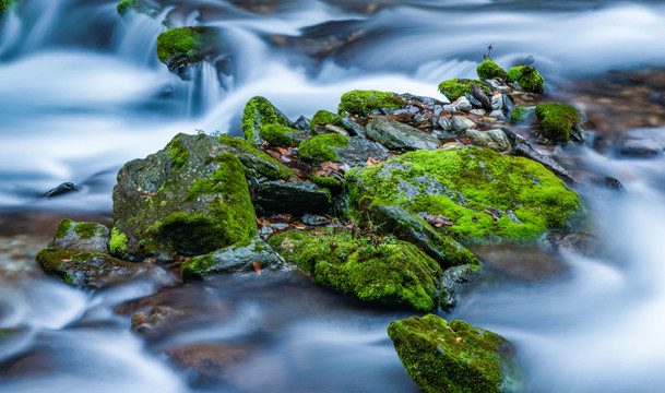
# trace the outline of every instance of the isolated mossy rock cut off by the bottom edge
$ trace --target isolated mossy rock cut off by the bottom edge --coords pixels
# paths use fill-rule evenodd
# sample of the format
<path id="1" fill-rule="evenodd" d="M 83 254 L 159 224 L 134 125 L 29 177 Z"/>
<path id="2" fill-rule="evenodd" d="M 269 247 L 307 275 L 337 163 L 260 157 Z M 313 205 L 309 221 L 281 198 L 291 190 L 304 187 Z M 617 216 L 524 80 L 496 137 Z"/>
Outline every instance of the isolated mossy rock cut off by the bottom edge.
<path id="1" fill-rule="evenodd" d="M 514 348 L 496 333 L 428 314 L 391 322 L 388 335 L 406 372 L 423 392 L 514 391 Z"/>

